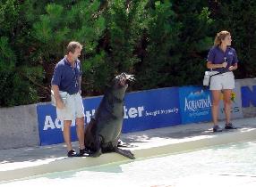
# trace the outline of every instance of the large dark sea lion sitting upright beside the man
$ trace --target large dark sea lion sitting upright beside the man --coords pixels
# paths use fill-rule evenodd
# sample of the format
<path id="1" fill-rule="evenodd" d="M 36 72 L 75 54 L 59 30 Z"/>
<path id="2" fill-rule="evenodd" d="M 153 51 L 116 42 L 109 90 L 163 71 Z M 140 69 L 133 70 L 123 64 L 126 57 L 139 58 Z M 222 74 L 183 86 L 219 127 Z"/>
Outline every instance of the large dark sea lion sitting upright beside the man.
<path id="1" fill-rule="evenodd" d="M 124 120 L 124 93 L 133 75 L 122 73 L 108 86 L 94 117 L 85 127 L 84 144 L 90 156 L 98 157 L 105 152 L 116 152 L 129 159 L 135 159 L 131 150 L 122 150 L 120 135 Z"/>

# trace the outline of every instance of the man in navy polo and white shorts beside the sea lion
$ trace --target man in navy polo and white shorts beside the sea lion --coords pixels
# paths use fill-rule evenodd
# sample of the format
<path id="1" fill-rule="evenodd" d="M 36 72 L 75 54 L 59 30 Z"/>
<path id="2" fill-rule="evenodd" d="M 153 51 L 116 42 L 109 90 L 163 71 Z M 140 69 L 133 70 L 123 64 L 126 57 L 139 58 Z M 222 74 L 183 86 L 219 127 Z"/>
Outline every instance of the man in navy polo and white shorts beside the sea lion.
<path id="1" fill-rule="evenodd" d="M 86 152 L 84 146 L 84 110 L 81 100 L 81 55 L 82 45 L 70 42 L 67 45 L 64 59 L 55 66 L 52 77 L 52 91 L 55 97 L 57 118 L 64 120 L 64 142 L 68 150 L 67 156 L 81 156 Z M 73 150 L 71 143 L 71 124 L 75 119 L 76 132 L 80 144 L 80 153 Z"/>

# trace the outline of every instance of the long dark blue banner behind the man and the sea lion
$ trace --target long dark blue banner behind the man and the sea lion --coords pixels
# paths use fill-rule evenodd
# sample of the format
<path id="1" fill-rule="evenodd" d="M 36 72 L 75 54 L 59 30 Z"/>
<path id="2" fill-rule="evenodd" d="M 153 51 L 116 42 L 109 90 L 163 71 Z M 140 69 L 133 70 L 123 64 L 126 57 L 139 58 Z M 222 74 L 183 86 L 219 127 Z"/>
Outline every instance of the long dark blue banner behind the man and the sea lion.
<path id="1" fill-rule="evenodd" d="M 94 115 L 102 96 L 83 99 L 85 122 Z M 38 104 L 38 128 L 41 145 L 64 142 L 63 121 L 56 118 L 55 107 Z M 176 87 L 127 93 L 124 98 L 123 133 L 181 124 L 179 91 Z M 72 141 L 76 141 L 75 123 Z"/>

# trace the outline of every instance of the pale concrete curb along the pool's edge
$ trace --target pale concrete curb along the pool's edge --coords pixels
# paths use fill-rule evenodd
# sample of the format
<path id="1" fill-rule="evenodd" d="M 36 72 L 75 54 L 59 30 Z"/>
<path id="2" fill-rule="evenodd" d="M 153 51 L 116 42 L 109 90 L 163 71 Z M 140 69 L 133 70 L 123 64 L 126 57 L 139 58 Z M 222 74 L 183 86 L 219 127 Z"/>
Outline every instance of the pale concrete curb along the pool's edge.
<path id="1" fill-rule="evenodd" d="M 161 142 L 149 144 L 147 147 L 132 148 L 136 159 L 154 157 L 164 154 L 175 154 L 191 150 L 205 149 L 209 146 L 226 144 L 230 142 L 248 142 L 256 140 L 256 129 L 241 128 L 231 132 L 223 132 L 213 135 L 202 135 L 195 138 L 185 139 L 183 142 Z M 51 161 L 47 164 L 41 164 L 32 167 L 22 167 L 0 171 L 0 182 L 8 182 L 35 175 L 44 175 L 53 172 L 62 172 L 79 169 L 82 167 L 92 167 L 113 162 L 129 160 L 115 153 L 103 154 L 99 158 L 67 158 Z"/>

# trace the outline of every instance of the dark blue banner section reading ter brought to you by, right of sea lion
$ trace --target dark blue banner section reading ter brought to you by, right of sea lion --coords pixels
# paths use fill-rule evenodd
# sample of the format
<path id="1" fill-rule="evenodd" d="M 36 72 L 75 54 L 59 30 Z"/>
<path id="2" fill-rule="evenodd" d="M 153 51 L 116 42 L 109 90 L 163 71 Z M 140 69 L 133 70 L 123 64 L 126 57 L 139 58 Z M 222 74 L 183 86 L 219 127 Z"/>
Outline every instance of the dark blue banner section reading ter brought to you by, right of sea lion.
<path id="1" fill-rule="evenodd" d="M 177 87 L 128 93 L 123 133 L 181 124 Z"/>

